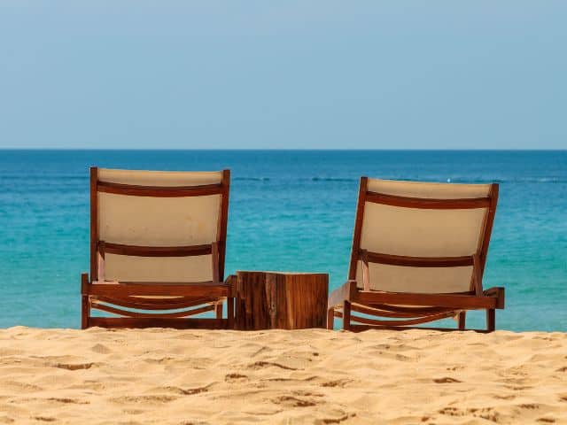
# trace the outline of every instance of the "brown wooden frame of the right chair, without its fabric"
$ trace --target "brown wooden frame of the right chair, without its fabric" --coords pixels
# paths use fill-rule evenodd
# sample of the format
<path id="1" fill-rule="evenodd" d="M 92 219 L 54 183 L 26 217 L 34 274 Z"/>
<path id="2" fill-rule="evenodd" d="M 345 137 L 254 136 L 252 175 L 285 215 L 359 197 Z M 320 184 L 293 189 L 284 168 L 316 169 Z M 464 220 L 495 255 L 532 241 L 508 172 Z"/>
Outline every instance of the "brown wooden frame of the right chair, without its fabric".
<path id="1" fill-rule="evenodd" d="M 468 209 L 488 208 L 485 217 L 482 243 L 477 252 L 465 257 L 405 257 L 361 250 L 361 232 L 364 205 L 367 202 L 418 209 Z M 327 311 L 327 328 L 334 327 L 334 318 L 343 318 L 343 328 L 361 331 L 370 328 L 406 329 L 411 325 L 439 321 L 458 316 L 458 328 L 434 328 L 437 330 L 465 330 L 467 310 L 486 311 L 486 329 L 469 329 L 492 332 L 496 327 L 495 309 L 504 308 L 504 288 L 483 290 L 486 254 L 498 203 L 498 184 L 491 184 L 488 197 L 467 199 L 429 199 L 385 195 L 368 190 L 368 178 L 361 177 L 361 185 L 354 222 L 353 249 L 351 252 L 348 281 L 330 294 Z M 362 261 L 362 284 L 358 288 L 356 267 Z M 458 267 L 472 266 L 470 290 L 450 294 L 399 293 L 370 290 L 369 263 L 405 267 Z M 404 306 L 401 306 L 404 305 Z M 390 320 L 377 320 L 355 316 L 363 313 Z M 352 323 L 355 322 L 355 323 Z"/>

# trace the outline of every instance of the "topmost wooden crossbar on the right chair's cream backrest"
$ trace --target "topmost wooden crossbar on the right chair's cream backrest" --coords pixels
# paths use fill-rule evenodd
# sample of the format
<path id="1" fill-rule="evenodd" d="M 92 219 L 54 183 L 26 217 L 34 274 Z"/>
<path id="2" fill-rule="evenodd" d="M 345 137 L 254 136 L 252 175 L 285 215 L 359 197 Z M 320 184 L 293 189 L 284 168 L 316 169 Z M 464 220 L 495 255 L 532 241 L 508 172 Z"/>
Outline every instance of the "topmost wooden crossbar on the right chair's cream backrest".
<path id="1" fill-rule="evenodd" d="M 366 193 L 366 200 L 374 204 L 400 206 L 402 208 L 416 208 L 423 210 L 466 210 L 475 208 L 488 208 L 491 205 L 490 197 L 472 197 L 462 199 L 430 199 L 426 197 L 399 197 L 384 193 Z"/>

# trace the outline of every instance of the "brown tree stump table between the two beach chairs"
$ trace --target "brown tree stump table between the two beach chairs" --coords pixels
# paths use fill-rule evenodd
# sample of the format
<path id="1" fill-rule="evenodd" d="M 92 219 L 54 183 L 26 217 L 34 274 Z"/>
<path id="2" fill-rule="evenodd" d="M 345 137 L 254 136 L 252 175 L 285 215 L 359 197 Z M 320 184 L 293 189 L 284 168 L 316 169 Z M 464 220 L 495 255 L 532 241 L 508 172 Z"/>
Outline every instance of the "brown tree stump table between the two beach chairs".
<path id="1" fill-rule="evenodd" d="M 235 328 L 326 328 L 329 274 L 238 271 Z"/>

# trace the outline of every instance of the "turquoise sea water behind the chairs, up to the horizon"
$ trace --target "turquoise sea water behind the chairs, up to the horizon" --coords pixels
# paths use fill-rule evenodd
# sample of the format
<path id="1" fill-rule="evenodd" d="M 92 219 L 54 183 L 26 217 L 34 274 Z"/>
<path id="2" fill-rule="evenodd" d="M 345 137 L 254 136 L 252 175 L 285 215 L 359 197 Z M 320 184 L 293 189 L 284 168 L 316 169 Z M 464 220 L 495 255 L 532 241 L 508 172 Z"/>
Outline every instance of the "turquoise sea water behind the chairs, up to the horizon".
<path id="1" fill-rule="evenodd" d="M 497 327 L 567 330 L 567 151 L 0 151 L 0 327 L 79 327 L 93 165 L 230 168 L 227 273 L 328 272 L 333 288 L 361 175 L 500 182 L 484 282 L 507 290 Z"/>

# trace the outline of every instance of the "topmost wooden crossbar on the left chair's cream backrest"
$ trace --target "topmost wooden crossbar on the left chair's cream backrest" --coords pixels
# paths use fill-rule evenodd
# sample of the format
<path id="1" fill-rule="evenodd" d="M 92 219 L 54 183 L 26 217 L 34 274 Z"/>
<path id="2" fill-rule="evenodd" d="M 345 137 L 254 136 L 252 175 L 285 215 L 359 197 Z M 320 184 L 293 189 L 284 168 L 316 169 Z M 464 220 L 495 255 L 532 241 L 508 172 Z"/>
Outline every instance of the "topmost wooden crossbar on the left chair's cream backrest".
<path id="1" fill-rule="evenodd" d="M 98 182 L 99 192 L 127 195 L 132 197 L 203 197 L 220 195 L 222 184 L 203 184 L 200 186 L 139 186 L 113 182 Z"/>

